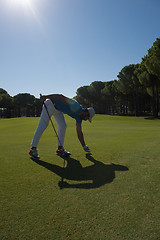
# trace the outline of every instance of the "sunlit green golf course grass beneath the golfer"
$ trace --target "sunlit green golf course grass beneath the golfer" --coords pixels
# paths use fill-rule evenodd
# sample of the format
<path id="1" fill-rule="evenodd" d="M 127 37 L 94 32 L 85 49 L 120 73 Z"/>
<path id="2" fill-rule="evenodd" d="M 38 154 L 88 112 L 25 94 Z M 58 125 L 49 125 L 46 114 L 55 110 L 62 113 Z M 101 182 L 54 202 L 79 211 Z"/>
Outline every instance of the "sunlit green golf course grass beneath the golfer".
<path id="1" fill-rule="evenodd" d="M 66 118 L 64 171 L 51 125 L 30 160 L 38 120 L 0 120 L 0 240 L 160 239 L 159 120 L 96 115 L 83 123 L 86 158 Z"/>

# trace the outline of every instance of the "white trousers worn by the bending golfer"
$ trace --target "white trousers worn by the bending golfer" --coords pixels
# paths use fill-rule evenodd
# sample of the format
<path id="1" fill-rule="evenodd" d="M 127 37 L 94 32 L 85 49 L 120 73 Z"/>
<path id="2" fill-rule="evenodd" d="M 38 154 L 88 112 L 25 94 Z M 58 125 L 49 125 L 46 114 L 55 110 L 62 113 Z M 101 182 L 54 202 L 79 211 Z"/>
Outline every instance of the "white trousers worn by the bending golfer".
<path id="1" fill-rule="evenodd" d="M 54 117 L 56 125 L 57 125 L 57 134 L 58 134 L 58 138 L 60 140 L 60 142 L 59 142 L 59 140 L 57 139 L 57 145 L 63 146 L 66 127 L 67 127 L 65 119 L 64 119 L 64 115 L 62 112 L 58 111 L 55 108 L 55 106 L 53 105 L 53 103 L 50 99 L 46 99 L 45 104 L 47 106 L 50 117 L 51 116 Z M 44 130 L 47 128 L 48 124 L 49 124 L 49 117 L 48 117 L 47 111 L 43 105 L 41 117 L 40 117 L 40 120 L 38 123 L 38 127 L 34 133 L 33 140 L 31 143 L 32 147 L 37 147 L 40 137 L 41 137 L 42 133 L 44 132 Z"/>

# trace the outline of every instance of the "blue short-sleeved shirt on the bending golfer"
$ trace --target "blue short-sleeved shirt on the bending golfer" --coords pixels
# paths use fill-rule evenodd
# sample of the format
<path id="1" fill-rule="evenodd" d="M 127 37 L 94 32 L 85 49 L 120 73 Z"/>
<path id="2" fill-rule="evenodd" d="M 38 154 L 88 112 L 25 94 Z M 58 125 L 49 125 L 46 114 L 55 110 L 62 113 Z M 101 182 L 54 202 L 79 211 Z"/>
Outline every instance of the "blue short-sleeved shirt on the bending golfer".
<path id="1" fill-rule="evenodd" d="M 83 111 L 83 108 L 76 100 L 68 99 L 67 103 L 63 103 L 60 100 L 54 99 L 53 102 L 57 110 L 74 118 L 77 123 L 82 123 L 82 119 L 78 115 Z"/>

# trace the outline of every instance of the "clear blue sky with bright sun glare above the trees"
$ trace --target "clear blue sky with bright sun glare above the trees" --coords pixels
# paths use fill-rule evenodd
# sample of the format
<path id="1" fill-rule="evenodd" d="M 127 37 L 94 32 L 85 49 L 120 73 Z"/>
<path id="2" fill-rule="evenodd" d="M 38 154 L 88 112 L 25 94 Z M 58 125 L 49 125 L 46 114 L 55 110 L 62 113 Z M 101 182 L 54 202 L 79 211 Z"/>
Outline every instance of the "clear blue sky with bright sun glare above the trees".
<path id="1" fill-rule="evenodd" d="M 76 95 L 160 37 L 160 0 L 0 0 L 0 88 Z"/>

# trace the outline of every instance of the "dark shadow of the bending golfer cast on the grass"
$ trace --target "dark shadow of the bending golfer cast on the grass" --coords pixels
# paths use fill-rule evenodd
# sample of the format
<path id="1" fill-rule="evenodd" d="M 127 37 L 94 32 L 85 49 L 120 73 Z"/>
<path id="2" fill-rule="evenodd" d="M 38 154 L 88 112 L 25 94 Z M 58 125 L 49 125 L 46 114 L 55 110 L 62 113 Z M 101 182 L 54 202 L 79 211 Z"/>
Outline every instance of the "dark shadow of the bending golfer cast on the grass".
<path id="1" fill-rule="evenodd" d="M 62 188 L 98 188 L 104 184 L 111 183 L 115 178 L 115 171 L 128 171 L 128 167 L 117 164 L 104 164 L 90 154 L 86 158 L 93 164 L 82 167 L 81 163 L 71 157 L 63 158 L 67 162 L 66 167 L 60 167 L 55 164 L 47 163 L 42 160 L 33 160 L 37 164 L 47 168 L 61 177 L 58 186 Z M 66 180 L 83 181 L 83 183 L 67 183 Z M 86 181 L 91 181 L 87 183 Z"/>

